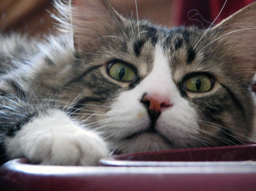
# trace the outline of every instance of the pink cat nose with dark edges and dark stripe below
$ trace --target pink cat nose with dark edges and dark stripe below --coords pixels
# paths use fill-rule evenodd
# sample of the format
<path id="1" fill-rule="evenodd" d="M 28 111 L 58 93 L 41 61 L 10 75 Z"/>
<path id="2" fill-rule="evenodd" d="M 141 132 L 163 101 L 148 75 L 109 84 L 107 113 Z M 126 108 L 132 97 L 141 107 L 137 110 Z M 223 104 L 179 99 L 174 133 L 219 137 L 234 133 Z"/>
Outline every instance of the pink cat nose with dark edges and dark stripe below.
<path id="1" fill-rule="evenodd" d="M 170 98 L 161 94 L 145 94 L 141 102 L 147 105 L 149 117 L 156 121 L 163 108 L 171 107 Z"/>

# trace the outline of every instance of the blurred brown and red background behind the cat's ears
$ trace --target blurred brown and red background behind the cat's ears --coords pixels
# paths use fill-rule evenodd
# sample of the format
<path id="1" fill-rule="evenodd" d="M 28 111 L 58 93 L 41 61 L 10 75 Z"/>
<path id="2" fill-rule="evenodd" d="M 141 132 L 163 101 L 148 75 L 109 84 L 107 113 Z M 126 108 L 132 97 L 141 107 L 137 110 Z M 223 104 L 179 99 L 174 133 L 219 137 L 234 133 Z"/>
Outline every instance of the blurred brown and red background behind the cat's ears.
<path id="1" fill-rule="evenodd" d="M 79 1 L 79 0 L 76 0 Z M 110 0 L 126 17 L 136 18 L 135 0 Z M 255 0 L 228 0 L 217 22 Z M 139 19 L 167 27 L 180 24 L 208 27 L 218 16 L 225 0 L 137 0 Z M 27 33 L 30 36 L 54 34 L 52 0 L 1 0 L 0 32 Z"/>

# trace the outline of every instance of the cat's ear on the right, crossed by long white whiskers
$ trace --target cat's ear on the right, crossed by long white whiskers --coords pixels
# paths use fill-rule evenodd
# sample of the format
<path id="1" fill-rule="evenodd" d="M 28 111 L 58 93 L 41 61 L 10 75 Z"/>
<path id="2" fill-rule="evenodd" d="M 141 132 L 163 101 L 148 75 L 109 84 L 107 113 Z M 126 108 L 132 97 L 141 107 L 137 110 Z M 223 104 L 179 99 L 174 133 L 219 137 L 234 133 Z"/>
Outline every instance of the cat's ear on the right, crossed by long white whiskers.
<path id="1" fill-rule="evenodd" d="M 256 72 L 256 2 L 241 9 L 211 29 L 217 51 L 229 56 L 227 67 L 233 67 L 245 80 Z M 231 68 L 232 69 L 232 68 Z"/>

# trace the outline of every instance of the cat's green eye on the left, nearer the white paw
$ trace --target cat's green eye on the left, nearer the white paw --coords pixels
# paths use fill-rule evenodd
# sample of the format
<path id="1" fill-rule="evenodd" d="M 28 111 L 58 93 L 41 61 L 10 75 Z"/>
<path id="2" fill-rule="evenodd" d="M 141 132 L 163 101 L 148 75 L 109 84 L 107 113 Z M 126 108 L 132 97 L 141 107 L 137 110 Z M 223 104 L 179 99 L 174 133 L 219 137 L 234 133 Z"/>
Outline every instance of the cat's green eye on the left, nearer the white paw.
<path id="1" fill-rule="evenodd" d="M 109 76 L 118 81 L 132 81 L 136 78 L 134 70 L 124 63 L 113 63 L 108 68 Z"/>

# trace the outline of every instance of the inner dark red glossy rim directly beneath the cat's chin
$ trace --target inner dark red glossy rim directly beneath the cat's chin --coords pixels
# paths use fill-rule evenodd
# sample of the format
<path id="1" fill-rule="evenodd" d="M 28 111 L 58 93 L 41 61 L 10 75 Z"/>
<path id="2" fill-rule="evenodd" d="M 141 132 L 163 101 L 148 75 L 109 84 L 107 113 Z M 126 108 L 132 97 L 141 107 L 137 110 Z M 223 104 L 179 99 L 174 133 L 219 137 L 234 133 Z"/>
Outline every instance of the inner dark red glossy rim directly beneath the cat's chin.
<path id="1" fill-rule="evenodd" d="M 216 163 L 220 161 L 222 161 L 222 163 L 224 161 L 256 161 L 256 143 L 250 142 L 245 145 L 236 146 L 177 149 L 169 151 L 113 155 L 111 157 L 101 159 L 100 165 L 176 166 L 187 164 L 184 162 L 201 162 L 200 164 L 204 164 L 202 162 Z M 196 163 L 193 164 L 196 165 Z"/>

